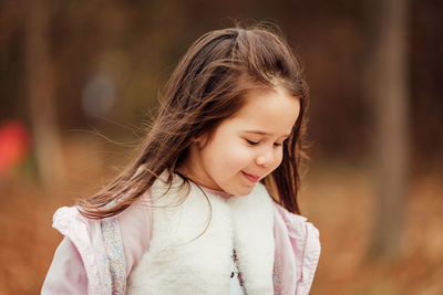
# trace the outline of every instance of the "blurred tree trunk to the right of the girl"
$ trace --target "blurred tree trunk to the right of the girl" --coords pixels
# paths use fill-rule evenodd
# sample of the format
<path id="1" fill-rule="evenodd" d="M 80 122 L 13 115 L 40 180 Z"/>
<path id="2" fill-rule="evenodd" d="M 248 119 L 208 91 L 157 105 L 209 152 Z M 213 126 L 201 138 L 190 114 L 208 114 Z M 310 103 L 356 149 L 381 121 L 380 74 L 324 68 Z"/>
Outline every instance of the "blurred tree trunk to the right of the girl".
<path id="1" fill-rule="evenodd" d="M 379 198 L 370 254 L 400 255 L 408 196 L 408 0 L 381 0 L 369 63 L 368 93 L 375 115 Z M 374 23 L 372 23 L 374 24 Z"/>

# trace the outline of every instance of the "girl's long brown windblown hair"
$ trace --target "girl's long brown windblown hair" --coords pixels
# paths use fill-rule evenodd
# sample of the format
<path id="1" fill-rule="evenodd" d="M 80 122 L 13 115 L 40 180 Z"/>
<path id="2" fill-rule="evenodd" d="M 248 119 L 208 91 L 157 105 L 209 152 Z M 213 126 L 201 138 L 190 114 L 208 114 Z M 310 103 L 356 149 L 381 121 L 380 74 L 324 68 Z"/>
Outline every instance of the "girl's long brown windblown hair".
<path id="1" fill-rule="evenodd" d="M 284 87 L 300 99 L 300 115 L 284 144 L 281 165 L 262 180 L 276 201 L 300 213 L 297 196 L 308 87 L 285 40 L 259 27 L 212 31 L 192 44 L 167 82 L 158 115 L 134 159 L 97 194 L 79 201 L 81 213 L 100 219 L 122 212 L 164 171 L 171 185 L 192 139 L 210 135 L 241 108 L 249 89 L 262 86 Z"/>

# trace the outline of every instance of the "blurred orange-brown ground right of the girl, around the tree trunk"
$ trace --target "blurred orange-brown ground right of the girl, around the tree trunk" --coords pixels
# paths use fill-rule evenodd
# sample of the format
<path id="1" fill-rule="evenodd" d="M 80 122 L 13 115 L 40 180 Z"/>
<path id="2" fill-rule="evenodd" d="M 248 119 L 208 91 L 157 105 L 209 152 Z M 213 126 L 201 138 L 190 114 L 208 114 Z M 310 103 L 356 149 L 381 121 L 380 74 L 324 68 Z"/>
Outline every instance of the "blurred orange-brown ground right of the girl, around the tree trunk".
<path id="1" fill-rule="evenodd" d="M 411 183 L 400 259 L 373 261 L 371 177 L 350 168 L 312 172 L 302 204 L 320 230 L 322 254 L 311 294 L 443 294 L 443 185 L 436 176 Z"/>

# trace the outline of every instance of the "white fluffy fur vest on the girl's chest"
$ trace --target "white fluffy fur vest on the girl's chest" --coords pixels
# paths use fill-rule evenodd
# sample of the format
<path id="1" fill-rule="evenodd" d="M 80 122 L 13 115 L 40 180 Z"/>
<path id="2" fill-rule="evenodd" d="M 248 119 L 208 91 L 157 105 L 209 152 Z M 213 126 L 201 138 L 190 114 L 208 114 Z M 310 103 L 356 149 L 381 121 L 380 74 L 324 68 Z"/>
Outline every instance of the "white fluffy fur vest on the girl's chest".
<path id="1" fill-rule="evenodd" d="M 248 294 L 272 294 L 272 201 L 262 185 L 249 196 L 224 199 L 176 176 L 153 209 L 150 250 L 130 274 L 127 294 L 223 294 L 229 292 L 233 249 Z M 157 180 L 152 197 L 167 186 Z"/>

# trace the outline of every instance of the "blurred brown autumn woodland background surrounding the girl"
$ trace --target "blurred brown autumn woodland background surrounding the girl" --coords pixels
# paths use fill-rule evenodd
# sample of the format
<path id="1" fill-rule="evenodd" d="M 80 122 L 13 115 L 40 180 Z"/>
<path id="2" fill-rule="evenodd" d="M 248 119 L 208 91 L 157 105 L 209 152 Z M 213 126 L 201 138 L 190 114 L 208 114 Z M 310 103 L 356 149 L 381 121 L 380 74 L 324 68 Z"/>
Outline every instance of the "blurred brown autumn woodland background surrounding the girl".
<path id="1" fill-rule="evenodd" d="M 443 294 L 443 2 L 0 1 L 0 294 L 37 294 L 61 206 L 124 167 L 203 33 L 279 25 L 305 65 L 311 294 Z M 439 82 L 440 81 L 440 82 Z"/>

